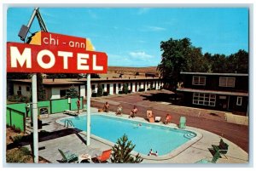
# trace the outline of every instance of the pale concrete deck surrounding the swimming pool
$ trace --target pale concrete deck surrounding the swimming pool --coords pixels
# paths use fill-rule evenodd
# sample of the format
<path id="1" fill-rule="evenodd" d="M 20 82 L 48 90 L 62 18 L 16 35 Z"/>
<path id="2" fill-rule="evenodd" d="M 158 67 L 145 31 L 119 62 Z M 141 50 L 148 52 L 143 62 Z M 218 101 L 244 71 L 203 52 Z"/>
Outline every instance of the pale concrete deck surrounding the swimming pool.
<path id="1" fill-rule="evenodd" d="M 91 112 L 96 112 L 96 108 L 91 108 Z M 86 113 L 86 112 L 85 112 Z M 115 116 L 113 112 L 108 112 L 109 116 Z M 110 145 L 102 143 L 100 140 L 91 138 L 90 145 L 86 145 L 86 134 L 79 131 L 76 128 L 65 128 L 62 125 L 55 123 L 55 121 L 62 117 L 70 117 L 67 114 L 58 113 L 49 115 L 48 118 L 43 119 L 44 131 L 49 132 L 51 135 L 48 138 L 39 139 L 39 156 L 44 157 L 49 162 L 60 163 L 61 154 L 58 149 L 62 151 L 71 151 L 77 155 L 90 154 L 92 157 L 99 155 L 102 151 L 111 148 Z M 128 115 L 123 114 L 119 117 L 128 118 Z M 145 122 L 143 117 L 135 117 L 133 120 Z M 163 124 L 163 123 L 154 123 Z M 177 127 L 176 124 L 169 124 L 170 127 Z M 201 139 L 196 141 L 193 145 L 183 149 L 177 156 L 166 160 L 160 160 L 160 158 L 153 157 L 152 160 L 144 159 L 142 163 L 195 163 L 201 159 L 212 159 L 212 154 L 208 148 L 212 147 L 212 144 L 218 143 L 220 136 L 213 134 L 201 128 L 186 127 L 188 130 L 198 132 L 202 135 Z M 224 139 L 224 138 L 223 138 Z M 243 151 L 238 145 L 230 142 L 230 140 L 224 139 L 229 145 L 229 151 L 226 154 L 226 158 L 222 157 L 218 159 L 217 163 L 248 163 L 248 154 Z M 27 145 L 30 147 L 30 145 Z"/>

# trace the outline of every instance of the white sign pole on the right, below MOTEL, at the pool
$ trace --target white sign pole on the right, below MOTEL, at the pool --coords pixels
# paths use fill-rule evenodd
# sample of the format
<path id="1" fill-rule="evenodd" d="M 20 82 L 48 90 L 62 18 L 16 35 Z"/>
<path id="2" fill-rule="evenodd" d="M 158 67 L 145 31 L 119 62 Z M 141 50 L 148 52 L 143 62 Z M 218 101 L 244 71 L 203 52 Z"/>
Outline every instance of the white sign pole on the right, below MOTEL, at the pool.
<path id="1" fill-rule="evenodd" d="M 87 134 L 86 144 L 90 145 L 90 74 L 87 74 Z"/>

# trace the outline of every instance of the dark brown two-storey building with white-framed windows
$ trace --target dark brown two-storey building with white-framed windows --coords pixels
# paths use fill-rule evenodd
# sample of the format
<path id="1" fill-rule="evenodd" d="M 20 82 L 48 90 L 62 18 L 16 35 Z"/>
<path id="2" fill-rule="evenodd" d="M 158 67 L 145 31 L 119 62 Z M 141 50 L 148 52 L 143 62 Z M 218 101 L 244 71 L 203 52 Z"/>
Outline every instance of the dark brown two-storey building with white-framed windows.
<path id="1" fill-rule="evenodd" d="M 247 116 L 248 74 L 181 72 L 183 104 Z"/>

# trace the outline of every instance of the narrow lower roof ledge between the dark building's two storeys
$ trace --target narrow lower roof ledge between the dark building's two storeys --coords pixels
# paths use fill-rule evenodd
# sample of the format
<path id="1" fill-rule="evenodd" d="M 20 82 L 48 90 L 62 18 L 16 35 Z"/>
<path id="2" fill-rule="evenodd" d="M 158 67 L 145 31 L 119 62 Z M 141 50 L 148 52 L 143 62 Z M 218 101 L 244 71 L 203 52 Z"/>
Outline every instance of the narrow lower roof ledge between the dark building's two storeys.
<path id="1" fill-rule="evenodd" d="M 195 88 L 177 88 L 177 91 L 193 92 L 193 93 L 206 93 L 206 94 L 248 96 L 248 93 L 245 93 L 245 92 L 217 91 L 217 90 L 206 90 L 206 89 L 195 89 Z"/>

